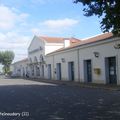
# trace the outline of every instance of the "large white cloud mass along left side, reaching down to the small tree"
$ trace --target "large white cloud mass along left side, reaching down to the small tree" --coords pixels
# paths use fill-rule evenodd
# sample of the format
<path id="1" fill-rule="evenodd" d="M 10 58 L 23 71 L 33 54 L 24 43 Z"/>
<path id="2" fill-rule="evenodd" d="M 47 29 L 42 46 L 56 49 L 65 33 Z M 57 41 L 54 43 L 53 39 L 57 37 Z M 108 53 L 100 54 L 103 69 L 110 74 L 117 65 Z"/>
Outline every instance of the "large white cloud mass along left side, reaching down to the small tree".
<path id="1" fill-rule="evenodd" d="M 0 5 L 0 13 L 0 51 L 14 51 L 15 61 L 27 57 L 31 38 L 24 35 L 26 29 L 23 25 L 27 23 L 29 14 L 4 5 Z"/>

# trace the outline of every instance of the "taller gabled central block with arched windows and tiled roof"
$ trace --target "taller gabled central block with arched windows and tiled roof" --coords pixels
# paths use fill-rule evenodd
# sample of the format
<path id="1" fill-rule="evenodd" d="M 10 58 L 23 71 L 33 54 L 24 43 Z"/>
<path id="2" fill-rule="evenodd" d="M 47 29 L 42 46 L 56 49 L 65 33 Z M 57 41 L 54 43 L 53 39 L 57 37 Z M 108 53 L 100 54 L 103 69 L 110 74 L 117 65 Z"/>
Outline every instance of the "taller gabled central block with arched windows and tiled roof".
<path id="1" fill-rule="evenodd" d="M 33 78 L 46 76 L 46 55 L 79 42 L 75 38 L 54 38 L 35 36 L 28 48 L 29 75 Z"/>

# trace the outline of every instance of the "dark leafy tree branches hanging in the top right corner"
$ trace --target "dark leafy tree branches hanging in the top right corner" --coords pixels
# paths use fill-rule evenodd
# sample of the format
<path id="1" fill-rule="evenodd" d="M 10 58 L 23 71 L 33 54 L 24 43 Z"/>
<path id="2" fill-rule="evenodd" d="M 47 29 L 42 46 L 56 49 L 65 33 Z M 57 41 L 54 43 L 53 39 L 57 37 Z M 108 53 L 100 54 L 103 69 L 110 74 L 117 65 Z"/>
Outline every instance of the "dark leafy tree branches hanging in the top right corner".
<path id="1" fill-rule="evenodd" d="M 84 5 L 84 15 L 96 15 L 102 18 L 103 32 L 113 32 L 120 36 L 120 0 L 74 0 L 74 3 Z"/>

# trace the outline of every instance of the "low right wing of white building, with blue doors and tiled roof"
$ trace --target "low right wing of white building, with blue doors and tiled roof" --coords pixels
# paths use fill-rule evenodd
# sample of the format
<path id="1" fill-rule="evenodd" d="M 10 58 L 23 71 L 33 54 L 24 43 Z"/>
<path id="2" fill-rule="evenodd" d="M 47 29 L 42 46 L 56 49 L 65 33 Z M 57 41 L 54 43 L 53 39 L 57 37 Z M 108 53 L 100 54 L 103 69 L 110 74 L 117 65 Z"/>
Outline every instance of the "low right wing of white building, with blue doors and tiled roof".
<path id="1" fill-rule="evenodd" d="M 120 38 L 94 37 L 46 57 L 52 79 L 120 84 Z"/>

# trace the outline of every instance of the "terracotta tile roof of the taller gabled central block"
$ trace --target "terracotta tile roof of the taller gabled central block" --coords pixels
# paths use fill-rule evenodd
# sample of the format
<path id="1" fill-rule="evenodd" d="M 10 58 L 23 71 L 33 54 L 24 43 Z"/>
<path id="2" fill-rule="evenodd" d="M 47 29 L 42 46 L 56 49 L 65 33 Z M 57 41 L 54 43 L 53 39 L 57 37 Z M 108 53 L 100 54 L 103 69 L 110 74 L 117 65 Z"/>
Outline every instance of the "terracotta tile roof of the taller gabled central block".
<path id="1" fill-rule="evenodd" d="M 76 42 L 79 42 L 80 40 L 76 39 L 76 38 L 62 38 L 62 37 L 43 37 L 43 36 L 40 36 L 39 38 L 42 38 L 44 39 L 47 43 L 63 43 L 64 40 L 70 40 L 71 41 L 71 44 L 72 43 L 76 43 Z"/>

